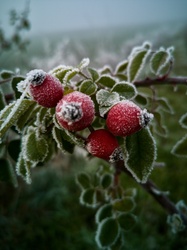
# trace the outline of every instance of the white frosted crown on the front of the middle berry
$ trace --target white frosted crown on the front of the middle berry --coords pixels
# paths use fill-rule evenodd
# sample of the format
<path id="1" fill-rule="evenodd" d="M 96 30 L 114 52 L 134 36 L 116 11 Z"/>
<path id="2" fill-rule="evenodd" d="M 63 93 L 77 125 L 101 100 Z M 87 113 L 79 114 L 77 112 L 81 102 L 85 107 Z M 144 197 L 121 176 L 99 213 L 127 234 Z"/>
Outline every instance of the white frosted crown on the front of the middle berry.
<path id="1" fill-rule="evenodd" d="M 64 101 L 61 110 L 57 112 L 57 115 L 62 117 L 65 121 L 68 122 L 68 125 L 73 124 L 74 122 L 79 121 L 82 116 L 82 107 L 80 102 L 66 102 Z"/>

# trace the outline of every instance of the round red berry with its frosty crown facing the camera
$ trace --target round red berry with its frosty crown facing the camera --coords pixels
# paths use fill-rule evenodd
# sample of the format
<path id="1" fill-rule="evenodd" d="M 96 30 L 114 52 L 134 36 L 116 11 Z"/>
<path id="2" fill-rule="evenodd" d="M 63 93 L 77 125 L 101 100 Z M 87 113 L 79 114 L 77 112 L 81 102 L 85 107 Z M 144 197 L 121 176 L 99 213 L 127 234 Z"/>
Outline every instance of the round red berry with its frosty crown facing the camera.
<path id="1" fill-rule="evenodd" d="M 59 124 L 69 131 L 80 131 L 93 121 L 95 107 L 90 96 L 79 91 L 65 95 L 56 106 Z"/>

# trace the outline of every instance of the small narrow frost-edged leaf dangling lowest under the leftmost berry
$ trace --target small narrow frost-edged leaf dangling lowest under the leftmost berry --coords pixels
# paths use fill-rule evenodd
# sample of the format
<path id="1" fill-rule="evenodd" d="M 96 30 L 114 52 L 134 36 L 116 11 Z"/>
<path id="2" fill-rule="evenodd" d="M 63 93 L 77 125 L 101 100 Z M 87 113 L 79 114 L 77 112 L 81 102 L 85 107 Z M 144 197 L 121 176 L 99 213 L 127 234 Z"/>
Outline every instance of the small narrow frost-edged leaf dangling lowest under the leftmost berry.
<path id="1" fill-rule="evenodd" d="M 31 184 L 31 163 L 24 159 L 23 152 L 20 153 L 16 163 L 16 173 L 21 176 L 27 184 Z"/>

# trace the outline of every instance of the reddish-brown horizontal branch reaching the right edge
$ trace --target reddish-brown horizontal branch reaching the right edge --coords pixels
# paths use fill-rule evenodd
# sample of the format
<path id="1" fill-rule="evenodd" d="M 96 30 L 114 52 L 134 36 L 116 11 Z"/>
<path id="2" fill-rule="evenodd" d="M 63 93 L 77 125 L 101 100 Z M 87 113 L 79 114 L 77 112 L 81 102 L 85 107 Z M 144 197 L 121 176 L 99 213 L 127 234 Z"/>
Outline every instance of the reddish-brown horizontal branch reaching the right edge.
<path id="1" fill-rule="evenodd" d="M 158 78 L 146 78 L 141 81 L 135 81 L 134 85 L 137 87 L 147 87 L 151 85 L 160 85 L 160 84 L 173 84 L 173 85 L 187 85 L 187 77 L 176 76 L 176 77 L 158 77 Z"/>

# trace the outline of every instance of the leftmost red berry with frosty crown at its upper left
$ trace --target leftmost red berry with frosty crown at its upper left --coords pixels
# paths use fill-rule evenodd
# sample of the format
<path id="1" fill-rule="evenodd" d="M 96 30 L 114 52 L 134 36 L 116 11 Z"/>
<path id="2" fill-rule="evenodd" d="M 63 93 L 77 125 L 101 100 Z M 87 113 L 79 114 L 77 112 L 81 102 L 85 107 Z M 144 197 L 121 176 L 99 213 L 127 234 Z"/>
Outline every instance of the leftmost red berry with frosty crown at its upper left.
<path id="1" fill-rule="evenodd" d="M 29 84 L 29 93 L 41 106 L 53 108 L 63 96 L 61 82 L 43 70 L 32 70 L 25 80 Z"/>

